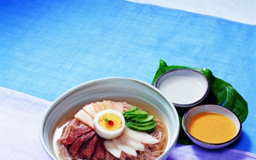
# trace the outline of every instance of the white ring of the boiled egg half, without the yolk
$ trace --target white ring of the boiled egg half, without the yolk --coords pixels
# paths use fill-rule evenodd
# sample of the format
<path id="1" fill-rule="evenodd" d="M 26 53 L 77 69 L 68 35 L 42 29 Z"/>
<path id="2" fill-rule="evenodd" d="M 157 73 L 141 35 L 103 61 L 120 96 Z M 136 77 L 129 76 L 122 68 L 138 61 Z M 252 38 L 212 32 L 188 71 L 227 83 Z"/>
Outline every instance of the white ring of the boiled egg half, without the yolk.
<path id="1" fill-rule="evenodd" d="M 107 129 L 104 129 L 102 128 L 100 125 L 99 125 L 99 119 L 102 115 L 105 115 L 107 113 L 113 113 L 113 114 L 116 114 L 120 117 L 121 121 L 122 121 L 122 127 L 121 128 L 118 128 L 117 130 L 115 131 L 109 131 Z M 95 117 L 94 117 L 94 130 L 95 132 L 102 138 L 106 139 L 106 140 L 112 140 L 116 137 L 118 137 L 119 135 L 122 134 L 123 130 L 124 130 L 124 126 L 125 126 L 125 119 L 123 117 L 123 115 L 116 111 L 116 110 L 113 110 L 113 109 L 106 109 L 106 110 L 102 110 L 100 112 L 98 112 Z"/>

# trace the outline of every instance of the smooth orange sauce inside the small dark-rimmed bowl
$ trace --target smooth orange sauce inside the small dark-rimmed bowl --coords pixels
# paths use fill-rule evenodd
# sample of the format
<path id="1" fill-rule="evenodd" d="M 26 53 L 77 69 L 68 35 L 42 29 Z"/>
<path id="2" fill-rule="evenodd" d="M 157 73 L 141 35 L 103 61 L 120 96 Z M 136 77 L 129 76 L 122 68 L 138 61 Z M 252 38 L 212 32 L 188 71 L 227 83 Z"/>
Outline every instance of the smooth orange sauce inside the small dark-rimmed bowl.
<path id="1" fill-rule="evenodd" d="M 200 141 L 223 143 L 235 137 L 236 126 L 227 116 L 213 112 L 200 112 L 191 117 L 188 132 Z"/>

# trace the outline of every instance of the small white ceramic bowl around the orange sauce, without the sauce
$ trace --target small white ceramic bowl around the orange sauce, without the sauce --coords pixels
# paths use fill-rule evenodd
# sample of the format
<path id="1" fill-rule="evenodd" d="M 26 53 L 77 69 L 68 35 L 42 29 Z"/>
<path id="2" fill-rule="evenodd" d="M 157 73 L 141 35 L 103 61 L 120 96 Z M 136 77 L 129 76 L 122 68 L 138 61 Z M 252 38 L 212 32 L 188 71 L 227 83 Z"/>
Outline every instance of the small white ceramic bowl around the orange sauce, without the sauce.
<path id="1" fill-rule="evenodd" d="M 215 112 L 215 113 L 219 113 L 219 114 L 226 115 L 227 117 L 229 117 L 235 123 L 235 126 L 237 128 L 235 137 L 232 138 L 230 141 L 226 141 L 223 143 L 206 143 L 204 141 L 200 141 L 197 138 L 193 137 L 188 132 L 188 125 L 189 125 L 191 117 L 200 112 Z M 204 148 L 208 148 L 208 149 L 217 149 L 217 148 L 226 147 L 226 146 L 230 145 L 231 143 L 233 143 L 234 141 L 237 140 L 237 138 L 240 136 L 241 131 L 242 131 L 242 123 L 239 120 L 239 118 L 237 117 L 237 115 L 230 109 L 227 109 L 223 106 L 215 105 L 215 104 L 199 105 L 199 106 L 194 106 L 194 107 L 188 109 L 186 111 L 186 113 L 183 115 L 182 127 L 185 130 L 185 132 L 190 140 L 192 140 L 195 144 L 197 144 L 201 147 L 204 147 Z M 223 133 L 223 134 L 225 134 L 225 133 Z"/>

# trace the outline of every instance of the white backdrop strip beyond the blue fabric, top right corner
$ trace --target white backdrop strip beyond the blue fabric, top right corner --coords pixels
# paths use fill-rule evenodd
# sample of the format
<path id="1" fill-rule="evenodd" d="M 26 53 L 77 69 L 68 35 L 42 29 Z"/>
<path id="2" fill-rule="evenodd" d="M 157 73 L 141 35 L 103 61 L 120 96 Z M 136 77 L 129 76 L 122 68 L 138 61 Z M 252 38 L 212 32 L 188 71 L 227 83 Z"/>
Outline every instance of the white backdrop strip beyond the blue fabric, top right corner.
<path id="1" fill-rule="evenodd" d="M 256 25 L 256 0 L 128 0 Z"/>

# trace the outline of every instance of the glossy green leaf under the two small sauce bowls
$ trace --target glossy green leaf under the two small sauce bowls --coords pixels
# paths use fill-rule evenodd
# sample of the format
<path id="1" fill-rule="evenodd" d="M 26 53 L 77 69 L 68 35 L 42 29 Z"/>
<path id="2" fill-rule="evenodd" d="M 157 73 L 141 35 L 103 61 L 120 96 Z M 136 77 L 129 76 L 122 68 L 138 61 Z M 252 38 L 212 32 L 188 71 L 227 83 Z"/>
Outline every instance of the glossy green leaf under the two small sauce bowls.
<path id="1" fill-rule="evenodd" d="M 214 77 L 211 70 L 205 68 L 193 68 L 186 66 L 170 65 L 168 66 L 165 61 L 160 60 L 160 65 L 155 73 L 152 85 L 154 86 L 155 81 L 163 73 L 169 70 L 176 69 L 193 69 L 198 70 L 200 73 L 205 75 L 210 83 L 210 90 L 205 100 L 200 104 L 218 104 L 232 110 L 243 123 L 248 115 L 248 104 L 243 97 L 235 90 L 230 83 L 225 82 L 222 79 Z M 177 109 L 179 115 L 180 129 L 178 143 L 184 145 L 191 145 L 193 142 L 187 137 L 185 131 L 182 128 L 181 122 L 183 114 L 186 112 L 185 109 Z"/>

